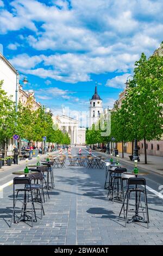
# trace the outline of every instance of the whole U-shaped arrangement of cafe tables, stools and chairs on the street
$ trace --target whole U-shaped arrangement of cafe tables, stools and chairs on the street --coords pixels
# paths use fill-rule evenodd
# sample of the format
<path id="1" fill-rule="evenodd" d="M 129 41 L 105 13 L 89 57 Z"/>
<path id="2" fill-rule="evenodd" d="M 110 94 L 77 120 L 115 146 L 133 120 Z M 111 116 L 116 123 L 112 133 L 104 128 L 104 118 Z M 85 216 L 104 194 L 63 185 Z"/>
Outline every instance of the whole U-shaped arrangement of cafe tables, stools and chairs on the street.
<path id="1" fill-rule="evenodd" d="M 67 161 L 67 162 L 66 162 Z M 128 172 L 120 162 L 110 162 L 102 156 L 83 155 L 60 155 L 51 156 L 35 164 L 28 164 L 27 172 L 14 172 L 13 180 L 14 209 L 12 212 L 12 223 L 30 221 L 32 223 L 45 215 L 43 205 L 51 200 L 49 191 L 55 187 L 54 169 L 66 167 L 83 167 L 89 169 L 105 168 L 104 189 L 108 190 L 106 200 L 110 203 L 121 202 L 119 217 L 125 221 L 125 226 L 130 222 L 149 223 L 146 180 L 138 173 Z M 19 197 L 22 197 L 22 207 L 17 207 Z M 131 202 L 131 203 L 130 203 Z M 133 205 L 134 202 L 134 205 Z M 131 209 L 130 209 L 131 208 Z M 37 211 L 39 210 L 39 211 Z M 38 214 L 39 212 L 39 214 Z M 19 215 L 18 215 L 19 213 Z M 130 218 L 130 214 L 133 214 Z M 19 217 L 18 217 L 19 216 Z"/>

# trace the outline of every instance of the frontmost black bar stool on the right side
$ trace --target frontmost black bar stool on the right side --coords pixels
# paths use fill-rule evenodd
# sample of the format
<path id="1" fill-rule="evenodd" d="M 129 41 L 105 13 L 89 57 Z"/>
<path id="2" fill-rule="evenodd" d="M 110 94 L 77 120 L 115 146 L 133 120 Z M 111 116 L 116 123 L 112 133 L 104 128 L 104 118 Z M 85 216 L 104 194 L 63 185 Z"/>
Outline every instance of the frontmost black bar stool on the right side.
<path id="1" fill-rule="evenodd" d="M 130 187 L 131 185 L 134 185 L 135 187 L 131 188 Z M 141 185 L 141 187 L 140 187 L 140 185 Z M 133 192 L 135 194 L 135 209 L 129 210 L 130 194 Z M 141 193 L 144 196 L 145 209 L 142 208 Z M 126 209 L 124 209 L 124 204 L 125 204 L 126 199 L 127 199 Z M 140 206 L 141 206 L 141 208 L 140 208 Z M 147 223 L 147 227 L 149 227 L 149 224 L 148 224 L 149 223 L 149 215 L 148 215 L 148 203 L 147 203 L 147 191 L 146 191 L 146 180 L 145 179 L 143 179 L 143 178 L 129 178 L 128 179 L 128 188 L 127 188 L 126 195 L 124 197 L 124 201 L 123 201 L 123 205 L 122 205 L 119 217 L 121 216 L 122 210 L 124 212 L 124 218 L 126 221 L 125 227 L 126 227 L 127 222 L 131 223 L 131 222 L 138 222 L 138 221 L 143 221 L 143 222 Z M 126 215 L 125 215 L 125 211 L 126 211 Z M 133 211 L 135 212 L 135 215 L 131 218 L 131 220 L 128 220 L 128 212 L 133 212 Z M 141 217 L 139 215 L 140 212 L 142 212 L 143 217 Z M 146 220 L 145 220 L 144 214 L 146 214 Z"/>

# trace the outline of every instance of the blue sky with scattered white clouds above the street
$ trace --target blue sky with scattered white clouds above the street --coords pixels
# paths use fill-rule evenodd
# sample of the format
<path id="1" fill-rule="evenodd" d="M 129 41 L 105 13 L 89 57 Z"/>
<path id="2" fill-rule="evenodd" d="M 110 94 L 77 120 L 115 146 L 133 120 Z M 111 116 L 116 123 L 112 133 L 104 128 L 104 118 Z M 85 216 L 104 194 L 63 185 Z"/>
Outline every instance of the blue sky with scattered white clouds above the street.
<path id="1" fill-rule="evenodd" d="M 159 47 L 162 0 L 0 0 L 0 43 L 27 74 L 36 100 L 72 117 L 86 111 L 98 84 L 112 107 L 142 52 Z"/>

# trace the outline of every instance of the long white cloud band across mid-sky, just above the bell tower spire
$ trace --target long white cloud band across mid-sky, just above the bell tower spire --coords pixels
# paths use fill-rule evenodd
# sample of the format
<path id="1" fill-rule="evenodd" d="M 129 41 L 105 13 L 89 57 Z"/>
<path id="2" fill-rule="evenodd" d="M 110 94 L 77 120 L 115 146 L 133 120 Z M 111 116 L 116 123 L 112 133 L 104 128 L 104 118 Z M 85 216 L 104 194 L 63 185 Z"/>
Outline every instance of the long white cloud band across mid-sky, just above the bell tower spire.
<path id="1" fill-rule="evenodd" d="M 20 70 L 26 69 L 27 74 L 42 78 L 77 83 L 91 81 L 91 74 L 104 74 L 106 72 L 127 72 L 139 58 L 137 54 L 118 54 L 117 56 L 92 57 L 89 54 L 54 54 L 45 56 L 28 56 L 20 54 L 10 60 L 12 65 Z M 37 64 L 43 68 L 35 68 Z"/>

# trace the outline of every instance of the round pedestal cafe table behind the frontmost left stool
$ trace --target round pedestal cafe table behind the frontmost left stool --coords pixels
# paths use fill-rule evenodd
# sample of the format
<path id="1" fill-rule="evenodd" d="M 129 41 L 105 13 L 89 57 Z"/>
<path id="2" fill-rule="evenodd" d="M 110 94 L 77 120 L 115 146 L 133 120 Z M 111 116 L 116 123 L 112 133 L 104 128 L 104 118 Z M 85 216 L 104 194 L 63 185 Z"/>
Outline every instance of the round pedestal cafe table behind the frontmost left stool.
<path id="1" fill-rule="evenodd" d="M 12 174 L 14 175 L 24 175 L 25 177 L 27 177 L 28 174 L 36 174 L 38 172 L 29 172 L 29 173 L 24 173 L 24 170 L 18 170 L 16 172 L 13 172 Z M 26 186 L 26 185 L 25 185 Z M 24 200 L 23 200 L 23 215 L 18 219 L 18 221 L 16 221 L 16 223 L 20 222 L 20 221 L 28 221 L 31 220 L 31 217 L 27 215 L 27 193 L 26 190 L 24 191 Z"/>

